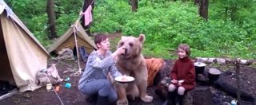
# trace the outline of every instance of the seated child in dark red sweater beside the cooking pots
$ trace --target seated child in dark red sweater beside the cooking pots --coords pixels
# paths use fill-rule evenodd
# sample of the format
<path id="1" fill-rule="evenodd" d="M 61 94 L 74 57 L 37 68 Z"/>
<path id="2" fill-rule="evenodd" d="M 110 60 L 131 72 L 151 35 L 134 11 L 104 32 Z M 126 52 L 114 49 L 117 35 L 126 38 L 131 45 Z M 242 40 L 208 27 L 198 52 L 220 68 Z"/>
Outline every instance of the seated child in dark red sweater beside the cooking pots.
<path id="1" fill-rule="evenodd" d="M 178 60 L 170 73 L 172 84 L 168 87 L 168 99 L 173 100 L 172 104 L 182 105 L 184 93 L 195 88 L 195 70 L 190 60 L 190 46 L 179 45 L 177 51 Z"/>

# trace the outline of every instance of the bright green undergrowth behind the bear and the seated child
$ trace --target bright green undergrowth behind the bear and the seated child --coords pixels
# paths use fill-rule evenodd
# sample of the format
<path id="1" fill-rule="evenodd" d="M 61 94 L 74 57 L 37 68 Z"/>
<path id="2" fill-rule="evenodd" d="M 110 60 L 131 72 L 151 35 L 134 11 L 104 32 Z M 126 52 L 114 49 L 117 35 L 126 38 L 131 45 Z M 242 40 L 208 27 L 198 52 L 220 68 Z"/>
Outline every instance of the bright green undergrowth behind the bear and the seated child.
<path id="1" fill-rule="evenodd" d="M 191 47 L 191 56 L 256 57 L 253 53 L 255 21 L 252 18 L 248 20 L 254 22 L 244 20 L 242 26 L 230 19 L 204 21 L 198 17 L 198 7 L 193 2 L 146 0 L 139 2 L 138 11 L 134 13 L 129 13 L 130 9 L 123 10 L 128 7 L 126 2 L 122 2 L 120 17 L 118 10 L 121 10 L 122 5 L 115 6 L 113 2 L 118 1 L 106 2 L 106 6 L 95 9 L 97 14 L 94 14 L 92 29 L 94 32 L 104 30 L 109 33 L 121 29 L 123 34 L 135 37 L 144 33 L 146 43 L 143 53 L 146 56 L 173 57 L 169 49 L 187 43 Z"/>

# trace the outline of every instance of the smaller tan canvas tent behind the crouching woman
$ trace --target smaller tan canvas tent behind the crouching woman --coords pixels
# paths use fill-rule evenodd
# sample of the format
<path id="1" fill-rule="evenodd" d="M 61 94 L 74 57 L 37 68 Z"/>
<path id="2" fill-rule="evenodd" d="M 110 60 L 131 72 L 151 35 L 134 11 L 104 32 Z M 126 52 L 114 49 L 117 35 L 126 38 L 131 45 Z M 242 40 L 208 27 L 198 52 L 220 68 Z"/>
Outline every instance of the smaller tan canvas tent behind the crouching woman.
<path id="1" fill-rule="evenodd" d="M 75 40 L 77 43 L 75 43 Z M 86 54 L 89 54 L 94 49 L 97 49 L 94 41 L 90 39 L 86 31 L 82 28 L 82 25 L 78 24 L 78 22 L 71 25 L 70 29 L 68 29 L 66 33 L 62 35 L 62 37 L 59 37 L 53 45 L 50 45 L 48 52 L 58 53 L 62 49 L 74 49 L 76 48 L 76 44 L 78 45 L 78 48 L 85 48 Z"/>

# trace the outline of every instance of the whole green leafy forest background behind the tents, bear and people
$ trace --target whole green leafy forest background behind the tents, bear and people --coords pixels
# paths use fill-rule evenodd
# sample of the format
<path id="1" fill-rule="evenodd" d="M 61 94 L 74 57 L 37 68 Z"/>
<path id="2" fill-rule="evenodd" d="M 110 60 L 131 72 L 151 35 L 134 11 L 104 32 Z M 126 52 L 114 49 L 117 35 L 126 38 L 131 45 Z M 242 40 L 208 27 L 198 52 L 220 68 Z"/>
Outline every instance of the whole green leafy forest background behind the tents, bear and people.
<path id="1" fill-rule="evenodd" d="M 46 48 L 54 41 L 47 30 L 47 1 L 6 0 Z M 52 1 L 60 37 L 78 20 L 84 1 Z M 177 46 L 187 43 L 192 57 L 256 58 L 256 0 L 209 0 L 207 20 L 199 16 L 195 1 L 138 0 L 133 12 L 129 0 L 95 0 L 90 31 L 134 37 L 144 33 L 145 56 L 174 58 Z"/>

